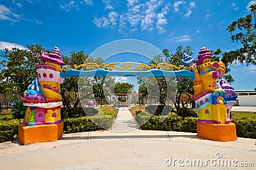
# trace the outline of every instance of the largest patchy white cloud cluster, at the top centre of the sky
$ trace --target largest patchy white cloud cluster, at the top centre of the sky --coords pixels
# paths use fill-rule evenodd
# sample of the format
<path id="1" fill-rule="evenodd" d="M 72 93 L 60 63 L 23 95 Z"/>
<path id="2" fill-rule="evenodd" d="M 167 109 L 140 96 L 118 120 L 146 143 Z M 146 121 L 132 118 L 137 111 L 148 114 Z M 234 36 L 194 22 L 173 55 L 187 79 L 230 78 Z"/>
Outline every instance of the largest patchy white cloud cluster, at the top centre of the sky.
<path id="1" fill-rule="evenodd" d="M 141 29 L 141 31 L 150 31 L 157 29 L 163 33 L 164 25 L 168 24 L 166 15 L 170 11 L 170 4 L 164 4 L 163 0 L 150 0 L 146 3 L 140 3 L 138 0 L 127 0 L 127 11 L 122 13 L 113 13 L 106 17 L 95 17 L 93 23 L 100 28 L 118 27 L 118 31 L 132 32 Z M 113 11 L 112 11 L 113 12 Z"/>

